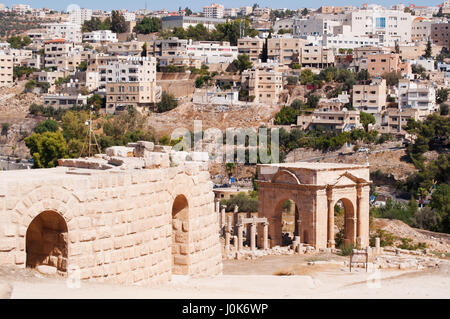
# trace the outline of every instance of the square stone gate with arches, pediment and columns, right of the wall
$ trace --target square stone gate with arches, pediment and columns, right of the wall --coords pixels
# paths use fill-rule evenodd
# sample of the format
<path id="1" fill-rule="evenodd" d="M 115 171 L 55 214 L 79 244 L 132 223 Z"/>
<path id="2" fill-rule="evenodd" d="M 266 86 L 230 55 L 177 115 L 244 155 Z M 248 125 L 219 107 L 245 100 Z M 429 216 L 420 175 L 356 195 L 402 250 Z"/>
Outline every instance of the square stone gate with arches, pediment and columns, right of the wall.
<path id="1" fill-rule="evenodd" d="M 295 203 L 294 235 L 301 243 L 316 249 L 335 247 L 334 206 L 340 201 L 345 209 L 344 242 L 369 245 L 368 166 L 264 164 L 258 165 L 258 178 L 258 215 L 268 218 L 272 247 L 282 243 L 281 211 L 287 200 Z"/>

